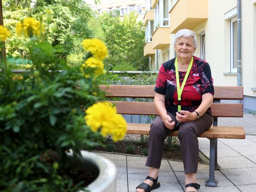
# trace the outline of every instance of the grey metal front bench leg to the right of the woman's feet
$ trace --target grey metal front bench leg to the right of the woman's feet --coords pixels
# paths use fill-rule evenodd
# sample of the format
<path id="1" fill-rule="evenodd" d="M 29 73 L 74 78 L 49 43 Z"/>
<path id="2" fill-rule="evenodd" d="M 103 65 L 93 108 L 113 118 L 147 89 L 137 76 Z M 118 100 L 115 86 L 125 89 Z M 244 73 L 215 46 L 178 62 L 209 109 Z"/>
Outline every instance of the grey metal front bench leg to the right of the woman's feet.
<path id="1" fill-rule="evenodd" d="M 209 167 L 209 179 L 205 182 L 205 186 L 216 187 L 218 181 L 214 179 L 214 167 L 215 167 L 215 141 L 217 139 L 210 140 L 210 167 Z"/>

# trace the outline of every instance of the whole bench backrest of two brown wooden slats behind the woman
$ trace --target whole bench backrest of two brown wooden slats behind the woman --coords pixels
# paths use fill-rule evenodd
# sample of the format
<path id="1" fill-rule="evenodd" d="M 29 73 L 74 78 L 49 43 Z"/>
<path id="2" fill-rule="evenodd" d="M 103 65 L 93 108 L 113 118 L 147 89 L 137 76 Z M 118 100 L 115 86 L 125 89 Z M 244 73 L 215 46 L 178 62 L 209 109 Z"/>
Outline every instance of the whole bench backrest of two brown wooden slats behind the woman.
<path id="1" fill-rule="evenodd" d="M 154 85 L 101 85 L 100 89 L 106 92 L 106 97 L 120 98 L 154 98 Z M 242 100 L 243 87 L 214 87 L 214 103 L 212 116 L 242 117 L 242 103 L 220 103 L 220 100 Z M 115 102 L 117 112 L 133 115 L 157 115 L 154 102 Z"/>

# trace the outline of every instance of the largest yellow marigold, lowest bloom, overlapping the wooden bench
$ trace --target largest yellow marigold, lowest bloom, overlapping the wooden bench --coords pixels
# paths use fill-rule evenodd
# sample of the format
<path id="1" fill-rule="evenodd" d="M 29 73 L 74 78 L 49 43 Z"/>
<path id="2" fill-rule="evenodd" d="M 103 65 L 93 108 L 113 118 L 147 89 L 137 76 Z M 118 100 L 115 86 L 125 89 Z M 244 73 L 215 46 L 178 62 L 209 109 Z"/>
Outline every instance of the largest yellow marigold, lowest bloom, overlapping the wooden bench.
<path id="1" fill-rule="evenodd" d="M 113 135 L 114 142 L 125 136 L 127 124 L 125 119 L 116 114 L 116 108 L 109 102 L 96 103 L 86 110 L 84 119 L 93 132 L 99 131 L 103 137 Z"/>

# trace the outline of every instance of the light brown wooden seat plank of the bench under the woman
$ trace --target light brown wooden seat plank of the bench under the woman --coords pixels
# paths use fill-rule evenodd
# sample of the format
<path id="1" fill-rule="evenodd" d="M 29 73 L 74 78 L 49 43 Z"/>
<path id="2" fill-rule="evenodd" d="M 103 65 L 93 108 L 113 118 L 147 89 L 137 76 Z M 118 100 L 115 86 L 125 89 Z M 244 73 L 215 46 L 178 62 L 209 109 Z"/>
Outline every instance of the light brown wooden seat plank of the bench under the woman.
<path id="1" fill-rule="evenodd" d="M 151 124 L 128 123 L 127 134 L 148 135 L 150 125 Z M 178 131 L 173 131 L 169 136 L 178 136 Z M 245 139 L 245 132 L 243 127 L 212 126 L 209 130 L 200 134 L 198 137 Z"/>

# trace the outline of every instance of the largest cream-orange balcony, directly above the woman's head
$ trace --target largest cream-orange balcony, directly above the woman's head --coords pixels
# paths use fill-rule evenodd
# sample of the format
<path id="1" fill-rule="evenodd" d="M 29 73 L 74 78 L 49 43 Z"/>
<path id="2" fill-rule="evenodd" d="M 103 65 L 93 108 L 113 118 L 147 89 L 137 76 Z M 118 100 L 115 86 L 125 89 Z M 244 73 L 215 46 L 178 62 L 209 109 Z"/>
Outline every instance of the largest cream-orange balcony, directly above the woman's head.
<path id="1" fill-rule="evenodd" d="M 178 0 L 169 13 L 171 33 L 193 29 L 208 18 L 208 0 Z"/>

